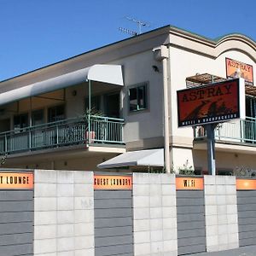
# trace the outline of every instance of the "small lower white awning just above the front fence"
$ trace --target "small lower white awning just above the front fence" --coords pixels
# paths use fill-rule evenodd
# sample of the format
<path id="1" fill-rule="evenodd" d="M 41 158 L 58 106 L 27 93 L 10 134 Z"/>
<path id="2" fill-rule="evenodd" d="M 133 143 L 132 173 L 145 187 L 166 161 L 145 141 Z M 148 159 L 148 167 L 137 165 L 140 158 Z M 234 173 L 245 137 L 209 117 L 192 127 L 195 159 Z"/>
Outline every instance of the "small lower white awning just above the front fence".
<path id="1" fill-rule="evenodd" d="M 99 165 L 98 168 L 109 169 L 125 166 L 164 166 L 164 149 L 148 149 L 126 152 Z"/>

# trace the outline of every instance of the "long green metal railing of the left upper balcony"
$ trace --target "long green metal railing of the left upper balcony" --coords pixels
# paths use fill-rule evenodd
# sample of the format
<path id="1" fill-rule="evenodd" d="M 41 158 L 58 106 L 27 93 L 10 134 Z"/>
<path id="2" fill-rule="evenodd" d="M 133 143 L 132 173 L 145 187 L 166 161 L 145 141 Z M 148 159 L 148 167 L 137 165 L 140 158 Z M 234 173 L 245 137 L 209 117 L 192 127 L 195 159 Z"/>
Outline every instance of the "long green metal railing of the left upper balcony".
<path id="1" fill-rule="evenodd" d="M 89 125 L 90 124 L 90 125 Z M 123 144 L 124 119 L 90 115 L 0 133 L 0 154 L 75 144 Z"/>

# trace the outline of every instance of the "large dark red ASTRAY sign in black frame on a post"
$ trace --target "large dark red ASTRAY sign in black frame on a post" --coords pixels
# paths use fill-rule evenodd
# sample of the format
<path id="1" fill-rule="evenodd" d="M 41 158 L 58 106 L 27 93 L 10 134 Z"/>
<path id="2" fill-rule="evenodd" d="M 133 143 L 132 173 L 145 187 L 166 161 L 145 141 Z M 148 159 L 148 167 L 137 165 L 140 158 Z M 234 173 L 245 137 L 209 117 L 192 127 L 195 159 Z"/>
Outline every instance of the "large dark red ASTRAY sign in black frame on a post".
<path id="1" fill-rule="evenodd" d="M 177 91 L 178 126 L 245 119 L 244 79 Z"/>

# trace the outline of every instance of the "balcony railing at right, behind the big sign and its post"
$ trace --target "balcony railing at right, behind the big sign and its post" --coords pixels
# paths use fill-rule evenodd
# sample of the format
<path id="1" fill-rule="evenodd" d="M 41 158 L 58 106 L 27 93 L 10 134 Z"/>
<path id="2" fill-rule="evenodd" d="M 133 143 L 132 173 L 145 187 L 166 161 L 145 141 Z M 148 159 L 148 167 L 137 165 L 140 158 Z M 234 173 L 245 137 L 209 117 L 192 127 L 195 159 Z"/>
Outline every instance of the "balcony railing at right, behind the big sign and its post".
<path id="1" fill-rule="evenodd" d="M 207 137 L 207 131 L 202 126 L 194 129 L 195 139 Z M 256 119 L 234 120 L 218 124 L 215 128 L 215 139 L 234 143 L 256 144 Z"/>

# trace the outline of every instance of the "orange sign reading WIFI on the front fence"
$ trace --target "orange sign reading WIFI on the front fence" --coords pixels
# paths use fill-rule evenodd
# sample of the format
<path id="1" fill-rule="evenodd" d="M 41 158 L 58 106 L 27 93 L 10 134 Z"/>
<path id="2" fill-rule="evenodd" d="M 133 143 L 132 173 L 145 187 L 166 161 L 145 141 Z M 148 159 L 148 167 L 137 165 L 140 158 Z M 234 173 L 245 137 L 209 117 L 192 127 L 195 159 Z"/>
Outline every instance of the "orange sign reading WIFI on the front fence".
<path id="1" fill-rule="evenodd" d="M 203 190 L 203 177 L 176 177 L 177 190 Z"/>

